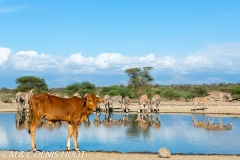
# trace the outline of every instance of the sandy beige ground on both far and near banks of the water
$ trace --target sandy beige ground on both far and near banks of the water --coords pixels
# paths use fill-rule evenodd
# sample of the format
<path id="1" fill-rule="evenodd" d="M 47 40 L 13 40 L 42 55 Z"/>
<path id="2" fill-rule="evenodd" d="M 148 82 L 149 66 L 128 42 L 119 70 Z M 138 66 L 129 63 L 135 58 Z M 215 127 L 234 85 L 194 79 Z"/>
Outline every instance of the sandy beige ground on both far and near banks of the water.
<path id="1" fill-rule="evenodd" d="M 104 109 L 104 106 L 101 106 Z M 114 105 L 115 108 L 120 108 L 119 105 Z M 160 105 L 160 113 L 175 113 L 175 114 L 219 114 L 222 116 L 240 116 L 240 102 L 214 102 L 209 103 L 206 107 L 205 111 L 202 110 L 202 105 L 198 105 L 195 111 L 192 111 L 194 107 L 192 106 L 192 102 L 178 102 L 178 101 L 162 101 Z M 130 112 L 137 112 L 138 105 L 136 103 L 132 103 L 130 105 Z M 0 102 L 0 113 L 1 112 L 16 112 L 17 104 L 13 103 L 3 103 Z M 115 111 L 120 111 L 119 109 L 115 109 Z M 1 114 L 0 114 L 1 116 Z M 1 138 L 1 137 L 0 137 Z M 157 149 L 158 150 L 158 149 Z M 75 153 L 75 157 L 72 156 L 74 151 L 71 154 L 62 153 L 64 151 L 49 155 L 45 152 L 36 153 L 33 152 L 21 152 L 17 151 L 0 151 L 0 159 L 1 160 L 10 160 L 10 159 L 58 159 L 58 160 L 70 160 L 70 159 L 83 159 L 83 160 L 140 160 L 140 159 L 164 159 L 158 157 L 158 154 L 149 154 L 149 153 L 115 153 L 115 152 L 77 152 Z M 66 151 L 65 151 L 66 152 Z M 172 155 L 171 160 L 237 160 L 240 159 L 239 155 Z"/>

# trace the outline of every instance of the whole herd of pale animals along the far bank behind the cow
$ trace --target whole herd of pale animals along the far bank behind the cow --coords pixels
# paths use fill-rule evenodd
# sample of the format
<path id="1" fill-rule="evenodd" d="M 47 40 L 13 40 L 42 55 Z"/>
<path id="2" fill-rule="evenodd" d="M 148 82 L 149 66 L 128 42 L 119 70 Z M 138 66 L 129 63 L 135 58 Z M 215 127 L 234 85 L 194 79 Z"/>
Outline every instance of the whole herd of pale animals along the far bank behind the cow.
<path id="1" fill-rule="evenodd" d="M 51 95 L 54 95 L 52 93 L 49 93 Z M 16 93 L 16 102 L 18 103 L 18 111 L 29 111 L 29 101 L 30 98 L 33 96 L 33 89 L 31 89 L 28 92 L 17 92 Z M 61 97 L 59 94 L 56 94 L 55 96 Z M 78 93 L 75 93 L 73 96 L 81 98 L 81 96 Z M 85 95 L 84 95 L 85 96 Z M 100 97 L 96 95 L 97 97 Z M 205 110 L 208 101 L 215 101 L 218 100 L 222 102 L 224 100 L 224 97 L 226 97 L 229 101 L 232 100 L 231 93 L 228 92 L 220 92 L 220 91 L 211 91 L 208 93 L 205 97 L 195 97 L 193 98 L 193 110 L 196 110 L 196 106 L 198 104 L 203 104 L 203 110 Z M 69 98 L 68 96 L 63 96 L 62 98 Z M 131 99 L 128 96 L 122 97 L 121 95 L 117 96 L 109 96 L 105 95 L 103 97 L 104 102 L 99 103 L 100 105 L 104 105 L 103 110 L 106 112 L 112 112 L 114 109 L 121 109 L 121 111 L 128 112 L 131 107 Z M 151 98 L 148 98 L 147 95 L 141 95 L 139 96 L 138 100 L 138 112 L 159 112 L 160 108 L 160 95 L 156 94 L 152 96 Z M 115 107 L 114 105 L 120 105 L 120 108 Z"/>

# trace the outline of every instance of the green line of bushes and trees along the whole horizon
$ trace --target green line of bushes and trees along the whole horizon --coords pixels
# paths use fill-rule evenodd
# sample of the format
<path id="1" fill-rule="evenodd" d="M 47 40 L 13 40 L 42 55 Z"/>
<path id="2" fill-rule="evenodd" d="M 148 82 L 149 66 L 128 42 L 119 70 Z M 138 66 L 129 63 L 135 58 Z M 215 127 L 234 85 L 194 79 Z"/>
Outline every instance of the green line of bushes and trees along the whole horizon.
<path id="1" fill-rule="evenodd" d="M 112 86 L 95 86 L 94 84 L 83 81 L 81 83 L 73 83 L 62 88 L 49 89 L 45 80 L 33 76 L 25 76 L 16 79 L 18 84 L 17 88 L 10 90 L 7 88 L 0 89 L 0 92 L 12 92 L 15 94 L 17 91 L 28 91 L 34 88 L 34 93 L 47 92 L 60 94 L 61 96 L 71 97 L 74 93 L 79 93 L 84 96 L 86 93 L 95 93 L 103 97 L 108 94 L 110 96 L 121 95 L 129 96 L 130 98 L 138 98 L 139 95 L 146 94 L 149 97 L 159 94 L 162 98 L 167 100 L 180 100 L 186 101 L 197 97 L 206 96 L 210 91 L 230 92 L 232 97 L 240 99 L 240 83 L 219 83 L 219 84 L 172 84 L 160 85 L 152 84 L 154 78 L 150 75 L 152 67 L 130 68 L 126 69 L 125 73 L 129 76 L 128 85 L 112 85 Z"/>

